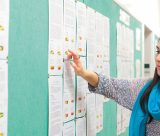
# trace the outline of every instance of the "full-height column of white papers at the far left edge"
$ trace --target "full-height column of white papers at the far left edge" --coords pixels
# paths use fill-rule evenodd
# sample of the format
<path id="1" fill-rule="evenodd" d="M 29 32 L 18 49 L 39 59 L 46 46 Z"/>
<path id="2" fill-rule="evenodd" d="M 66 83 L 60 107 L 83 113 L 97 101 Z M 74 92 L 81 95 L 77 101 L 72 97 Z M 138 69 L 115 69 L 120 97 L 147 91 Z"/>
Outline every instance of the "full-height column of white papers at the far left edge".
<path id="1" fill-rule="evenodd" d="M 8 135 L 9 0 L 0 0 L 0 135 Z"/>

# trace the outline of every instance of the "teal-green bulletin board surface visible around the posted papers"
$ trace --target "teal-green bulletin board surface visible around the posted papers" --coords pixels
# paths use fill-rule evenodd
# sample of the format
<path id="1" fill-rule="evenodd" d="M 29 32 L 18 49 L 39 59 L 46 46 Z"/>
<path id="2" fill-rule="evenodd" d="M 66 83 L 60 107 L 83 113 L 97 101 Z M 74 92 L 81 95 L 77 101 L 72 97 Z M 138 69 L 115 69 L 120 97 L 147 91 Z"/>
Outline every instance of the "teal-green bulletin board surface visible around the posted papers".
<path id="1" fill-rule="evenodd" d="M 83 0 L 110 18 L 110 73 L 116 69 L 116 23 L 121 9 L 112 0 Z M 9 34 L 8 136 L 48 135 L 48 0 L 11 0 Z M 141 29 L 131 16 L 130 28 Z M 141 59 L 136 51 L 134 59 Z M 104 126 L 97 136 L 116 136 L 116 103 L 104 103 Z M 126 131 L 121 136 L 126 136 Z"/>

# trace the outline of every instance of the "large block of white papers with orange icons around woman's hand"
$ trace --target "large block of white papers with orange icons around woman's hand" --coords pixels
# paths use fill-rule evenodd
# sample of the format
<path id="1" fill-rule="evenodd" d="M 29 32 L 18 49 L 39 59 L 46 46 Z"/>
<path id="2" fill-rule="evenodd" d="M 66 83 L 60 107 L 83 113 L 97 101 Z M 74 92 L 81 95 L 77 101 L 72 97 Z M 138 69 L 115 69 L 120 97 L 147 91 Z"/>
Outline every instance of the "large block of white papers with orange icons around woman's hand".
<path id="1" fill-rule="evenodd" d="M 109 19 L 79 1 L 50 0 L 49 136 L 85 136 L 86 131 L 95 136 L 103 128 L 104 97 L 87 92 L 87 82 L 75 76 L 73 62 L 67 59 L 68 49 L 80 55 L 84 67 L 88 62 L 89 69 L 109 75 Z M 94 103 L 86 113 L 87 103 L 91 105 L 87 95 Z"/>

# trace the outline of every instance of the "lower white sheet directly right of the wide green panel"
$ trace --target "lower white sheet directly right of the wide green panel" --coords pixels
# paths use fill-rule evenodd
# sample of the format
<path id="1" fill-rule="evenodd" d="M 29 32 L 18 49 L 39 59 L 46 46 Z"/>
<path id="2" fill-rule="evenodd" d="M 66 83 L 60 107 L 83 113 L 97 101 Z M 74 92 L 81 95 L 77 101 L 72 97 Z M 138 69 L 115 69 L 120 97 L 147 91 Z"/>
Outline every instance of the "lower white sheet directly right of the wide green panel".
<path id="1" fill-rule="evenodd" d="M 62 77 L 49 77 L 49 136 L 62 135 Z"/>

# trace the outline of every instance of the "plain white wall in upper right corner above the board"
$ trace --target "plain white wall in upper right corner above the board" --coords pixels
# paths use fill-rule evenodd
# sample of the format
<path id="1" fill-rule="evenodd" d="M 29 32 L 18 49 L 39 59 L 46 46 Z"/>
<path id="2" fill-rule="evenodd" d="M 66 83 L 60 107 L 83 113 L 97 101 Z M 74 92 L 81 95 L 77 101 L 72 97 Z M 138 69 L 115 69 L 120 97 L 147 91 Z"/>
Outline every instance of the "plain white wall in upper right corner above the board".
<path id="1" fill-rule="evenodd" d="M 160 0 L 114 0 L 160 35 Z"/>

